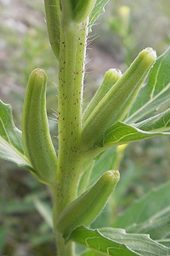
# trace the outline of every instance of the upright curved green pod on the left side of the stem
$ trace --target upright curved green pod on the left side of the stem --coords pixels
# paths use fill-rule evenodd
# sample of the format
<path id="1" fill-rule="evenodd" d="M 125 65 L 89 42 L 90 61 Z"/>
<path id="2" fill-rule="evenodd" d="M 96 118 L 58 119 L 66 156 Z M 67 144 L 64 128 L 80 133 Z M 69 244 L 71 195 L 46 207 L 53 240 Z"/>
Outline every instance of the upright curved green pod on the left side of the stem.
<path id="1" fill-rule="evenodd" d="M 29 76 L 23 106 L 22 135 L 25 153 L 43 183 L 53 183 L 57 172 L 46 115 L 46 74 L 35 69 Z"/>

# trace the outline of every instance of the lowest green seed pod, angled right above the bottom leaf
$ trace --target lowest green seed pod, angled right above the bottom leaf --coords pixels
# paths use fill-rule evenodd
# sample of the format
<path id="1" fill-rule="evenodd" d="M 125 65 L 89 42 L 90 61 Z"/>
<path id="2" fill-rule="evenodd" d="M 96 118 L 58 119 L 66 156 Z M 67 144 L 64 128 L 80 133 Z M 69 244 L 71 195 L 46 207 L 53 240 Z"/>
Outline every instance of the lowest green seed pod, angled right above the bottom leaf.
<path id="1" fill-rule="evenodd" d="M 91 188 L 67 205 L 58 217 L 58 232 L 66 238 L 77 226 L 90 225 L 105 207 L 119 179 L 118 171 L 107 171 Z"/>

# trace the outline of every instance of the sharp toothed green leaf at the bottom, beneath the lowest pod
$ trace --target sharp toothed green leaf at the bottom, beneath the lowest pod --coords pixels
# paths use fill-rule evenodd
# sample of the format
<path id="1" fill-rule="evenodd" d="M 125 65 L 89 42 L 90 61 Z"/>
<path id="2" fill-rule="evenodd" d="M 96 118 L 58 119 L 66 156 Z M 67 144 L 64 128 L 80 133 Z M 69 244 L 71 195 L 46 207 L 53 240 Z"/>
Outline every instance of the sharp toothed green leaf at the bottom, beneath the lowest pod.
<path id="1" fill-rule="evenodd" d="M 165 256 L 170 254 L 170 248 L 151 240 L 148 235 L 128 234 L 124 229 L 102 228 L 93 230 L 79 226 L 67 240 L 78 242 L 104 255 Z"/>

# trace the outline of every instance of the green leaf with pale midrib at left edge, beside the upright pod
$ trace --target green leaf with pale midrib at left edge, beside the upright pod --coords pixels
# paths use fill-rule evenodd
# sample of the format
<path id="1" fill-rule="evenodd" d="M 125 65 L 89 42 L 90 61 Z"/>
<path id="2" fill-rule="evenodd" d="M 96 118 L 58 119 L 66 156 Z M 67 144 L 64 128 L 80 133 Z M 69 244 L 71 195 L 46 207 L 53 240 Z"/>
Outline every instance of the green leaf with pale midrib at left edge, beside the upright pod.
<path id="1" fill-rule="evenodd" d="M 12 120 L 11 106 L 2 101 L 0 101 L 0 158 L 32 169 L 24 155 L 22 133 Z"/>

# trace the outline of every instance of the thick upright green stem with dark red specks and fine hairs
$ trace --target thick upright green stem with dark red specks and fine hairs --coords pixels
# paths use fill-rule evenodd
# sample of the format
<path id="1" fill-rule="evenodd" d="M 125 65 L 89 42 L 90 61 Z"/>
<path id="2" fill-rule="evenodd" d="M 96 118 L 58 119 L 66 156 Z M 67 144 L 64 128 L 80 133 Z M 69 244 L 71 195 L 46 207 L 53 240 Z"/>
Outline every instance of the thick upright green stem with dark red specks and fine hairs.
<path id="1" fill-rule="evenodd" d="M 83 159 L 79 153 L 87 22 L 70 22 L 61 30 L 58 88 L 58 172 L 54 193 L 54 228 L 67 204 L 76 198 Z M 72 256 L 71 242 L 56 233 L 58 256 Z"/>

